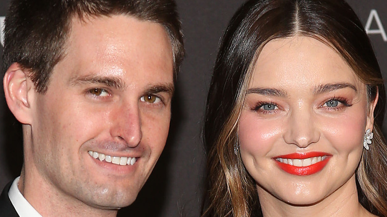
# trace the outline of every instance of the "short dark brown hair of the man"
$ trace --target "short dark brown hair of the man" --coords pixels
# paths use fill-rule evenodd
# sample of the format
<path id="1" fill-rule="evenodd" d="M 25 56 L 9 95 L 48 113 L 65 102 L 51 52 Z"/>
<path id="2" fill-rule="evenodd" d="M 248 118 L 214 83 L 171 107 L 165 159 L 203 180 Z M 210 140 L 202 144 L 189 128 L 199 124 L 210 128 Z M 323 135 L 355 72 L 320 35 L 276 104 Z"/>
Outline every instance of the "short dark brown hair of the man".
<path id="1" fill-rule="evenodd" d="M 36 90 L 45 93 L 54 66 L 64 57 L 72 18 L 122 14 L 163 25 L 176 78 L 184 48 L 174 0 L 12 0 L 4 21 L 4 72 L 18 62 L 30 72 Z"/>

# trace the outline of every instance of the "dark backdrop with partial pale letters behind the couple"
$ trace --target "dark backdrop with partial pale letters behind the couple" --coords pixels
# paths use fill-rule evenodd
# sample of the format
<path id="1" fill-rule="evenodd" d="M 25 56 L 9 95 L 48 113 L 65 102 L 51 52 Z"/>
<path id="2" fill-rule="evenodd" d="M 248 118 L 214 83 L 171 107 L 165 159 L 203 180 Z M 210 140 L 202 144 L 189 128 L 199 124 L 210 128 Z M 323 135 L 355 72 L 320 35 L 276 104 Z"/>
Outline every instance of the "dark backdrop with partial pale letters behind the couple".
<path id="1" fill-rule="evenodd" d="M 348 2 L 362 20 L 378 56 L 384 78 L 387 78 L 386 0 Z M 0 0 L 1 29 L 8 3 L 9 0 Z M 137 200 L 130 207 L 122 209 L 119 216 L 199 215 L 205 165 L 200 134 L 205 98 L 219 39 L 227 22 L 242 3 L 243 0 L 177 0 L 187 54 L 182 72 L 178 76 L 168 142 Z M 2 33 L 0 42 L 2 55 Z M 7 182 L 20 174 L 23 156 L 21 126 L 6 107 L 2 85 L 0 89 L 2 189 Z M 384 133 L 387 135 L 386 127 Z"/>

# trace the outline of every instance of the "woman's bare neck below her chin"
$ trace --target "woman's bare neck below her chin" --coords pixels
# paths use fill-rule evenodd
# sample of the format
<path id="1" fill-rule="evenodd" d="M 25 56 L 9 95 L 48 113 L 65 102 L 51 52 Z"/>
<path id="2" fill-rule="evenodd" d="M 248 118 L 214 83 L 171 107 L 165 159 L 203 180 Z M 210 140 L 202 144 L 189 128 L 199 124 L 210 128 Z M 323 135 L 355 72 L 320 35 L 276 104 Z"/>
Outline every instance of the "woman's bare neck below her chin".
<path id="1" fill-rule="evenodd" d="M 372 217 L 358 200 L 355 176 L 311 205 L 292 205 L 258 188 L 263 217 Z M 313 190 L 313 189 L 312 189 Z"/>

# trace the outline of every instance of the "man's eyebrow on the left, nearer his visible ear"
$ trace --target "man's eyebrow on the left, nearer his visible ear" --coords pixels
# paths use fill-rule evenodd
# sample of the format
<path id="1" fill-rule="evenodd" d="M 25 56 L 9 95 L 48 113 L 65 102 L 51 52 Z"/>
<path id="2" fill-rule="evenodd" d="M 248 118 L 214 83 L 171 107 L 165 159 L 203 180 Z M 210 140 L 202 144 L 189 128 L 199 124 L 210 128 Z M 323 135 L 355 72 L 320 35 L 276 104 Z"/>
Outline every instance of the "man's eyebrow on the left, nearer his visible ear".
<path id="1" fill-rule="evenodd" d="M 108 87 L 114 87 L 117 89 L 125 89 L 127 87 L 125 82 L 118 77 L 98 75 L 76 76 L 70 79 L 70 84 L 103 84 Z"/>

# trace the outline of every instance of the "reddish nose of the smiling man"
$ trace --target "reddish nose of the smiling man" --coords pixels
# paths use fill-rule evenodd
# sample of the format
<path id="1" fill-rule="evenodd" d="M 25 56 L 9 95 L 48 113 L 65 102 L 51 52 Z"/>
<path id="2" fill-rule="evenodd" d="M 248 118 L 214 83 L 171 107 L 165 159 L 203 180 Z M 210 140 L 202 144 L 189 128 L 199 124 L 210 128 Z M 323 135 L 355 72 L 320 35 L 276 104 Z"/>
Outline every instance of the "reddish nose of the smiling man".
<path id="1" fill-rule="evenodd" d="M 113 115 L 111 135 L 123 140 L 128 147 L 136 147 L 142 138 L 141 117 L 137 104 L 122 105 Z"/>

